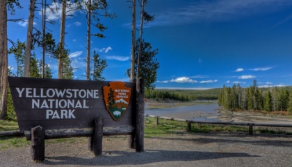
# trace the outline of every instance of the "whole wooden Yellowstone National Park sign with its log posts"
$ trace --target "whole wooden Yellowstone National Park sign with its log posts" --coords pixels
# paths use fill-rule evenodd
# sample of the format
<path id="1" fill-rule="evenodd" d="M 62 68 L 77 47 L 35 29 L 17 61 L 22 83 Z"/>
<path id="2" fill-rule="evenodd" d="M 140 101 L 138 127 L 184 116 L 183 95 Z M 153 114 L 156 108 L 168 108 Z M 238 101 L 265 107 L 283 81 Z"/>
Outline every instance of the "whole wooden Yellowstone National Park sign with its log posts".
<path id="1" fill-rule="evenodd" d="M 31 158 L 44 161 L 44 139 L 89 137 L 102 155 L 103 135 L 130 135 L 144 150 L 144 83 L 8 77 L 19 131 L 31 141 Z M 135 142 L 134 142 L 135 141 Z"/>

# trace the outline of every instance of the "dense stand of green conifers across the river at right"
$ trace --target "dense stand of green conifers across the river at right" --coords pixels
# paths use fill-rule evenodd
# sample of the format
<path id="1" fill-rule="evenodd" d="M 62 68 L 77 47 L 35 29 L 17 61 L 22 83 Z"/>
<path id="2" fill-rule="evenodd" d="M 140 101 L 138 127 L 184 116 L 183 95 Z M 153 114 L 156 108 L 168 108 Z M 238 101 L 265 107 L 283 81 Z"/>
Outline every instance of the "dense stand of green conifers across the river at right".
<path id="1" fill-rule="evenodd" d="M 241 87 L 225 87 L 221 89 L 218 95 L 218 105 L 225 109 L 250 109 L 250 110 L 266 110 L 271 111 L 292 111 L 292 90 L 289 87 L 259 88 L 257 81 L 254 80 L 253 85 L 248 88 Z M 291 100 L 291 101 L 290 101 Z M 289 108 L 290 107 L 290 108 Z"/>

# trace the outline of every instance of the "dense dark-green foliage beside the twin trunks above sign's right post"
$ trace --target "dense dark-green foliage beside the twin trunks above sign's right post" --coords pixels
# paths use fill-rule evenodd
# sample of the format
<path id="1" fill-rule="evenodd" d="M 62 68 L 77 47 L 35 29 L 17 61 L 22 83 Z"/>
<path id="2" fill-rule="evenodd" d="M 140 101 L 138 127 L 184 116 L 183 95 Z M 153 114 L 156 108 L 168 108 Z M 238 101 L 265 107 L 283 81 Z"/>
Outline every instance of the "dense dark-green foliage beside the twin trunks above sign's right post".
<path id="1" fill-rule="evenodd" d="M 138 66 L 138 53 L 139 53 L 139 40 L 136 40 L 135 45 L 135 76 Z M 157 69 L 159 69 L 159 62 L 155 55 L 158 54 L 158 49 L 152 50 L 152 46 L 149 42 L 142 41 L 141 58 L 138 78 L 144 78 L 145 88 L 154 89 L 153 84 L 157 78 Z"/>

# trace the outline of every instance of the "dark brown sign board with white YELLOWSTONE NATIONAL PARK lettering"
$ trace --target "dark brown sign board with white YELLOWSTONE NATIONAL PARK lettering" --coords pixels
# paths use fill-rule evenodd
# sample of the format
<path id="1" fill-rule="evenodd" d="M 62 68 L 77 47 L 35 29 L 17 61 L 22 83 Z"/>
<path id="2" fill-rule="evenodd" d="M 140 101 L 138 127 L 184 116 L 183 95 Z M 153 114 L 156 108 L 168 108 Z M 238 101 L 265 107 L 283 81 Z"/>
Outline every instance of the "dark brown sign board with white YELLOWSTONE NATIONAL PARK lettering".
<path id="1" fill-rule="evenodd" d="M 19 131 L 36 126 L 45 130 L 91 128 L 97 117 L 104 118 L 105 128 L 134 126 L 135 94 L 125 90 L 135 90 L 136 82 L 120 82 L 124 86 L 120 90 L 127 93 L 120 96 L 129 96 L 129 104 L 123 113 L 113 114 L 106 107 L 103 93 L 111 82 L 20 77 L 8 77 L 8 82 Z"/>

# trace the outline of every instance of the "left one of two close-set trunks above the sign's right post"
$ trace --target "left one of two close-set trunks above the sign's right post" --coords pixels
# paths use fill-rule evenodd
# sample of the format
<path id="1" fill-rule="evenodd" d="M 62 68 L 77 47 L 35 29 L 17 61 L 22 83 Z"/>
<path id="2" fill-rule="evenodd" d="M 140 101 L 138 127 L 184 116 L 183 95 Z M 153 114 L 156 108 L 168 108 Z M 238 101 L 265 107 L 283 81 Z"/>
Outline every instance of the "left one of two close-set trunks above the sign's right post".
<path id="1" fill-rule="evenodd" d="M 135 78 L 135 41 L 136 41 L 136 0 L 133 0 L 132 49 L 131 49 L 131 80 L 133 80 L 133 78 Z"/>

